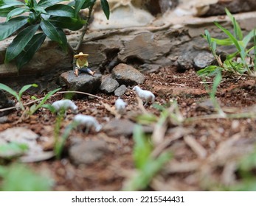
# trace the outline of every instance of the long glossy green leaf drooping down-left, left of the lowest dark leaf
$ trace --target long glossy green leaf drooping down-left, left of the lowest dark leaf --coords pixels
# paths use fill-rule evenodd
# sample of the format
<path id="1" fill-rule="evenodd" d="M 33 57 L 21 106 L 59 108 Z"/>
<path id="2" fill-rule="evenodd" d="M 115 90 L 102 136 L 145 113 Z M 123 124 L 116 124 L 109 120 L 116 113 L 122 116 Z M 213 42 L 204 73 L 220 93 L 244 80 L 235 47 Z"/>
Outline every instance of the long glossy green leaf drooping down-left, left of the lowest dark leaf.
<path id="1" fill-rule="evenodd" d="M 26 29 L 23 29 L 10 43 L 10 46 L 7 47 L 5 54 L 5 62 L 8 63 L 10 60 L 13 60 L 21 51 L 27 46 L 27 43 L 30 42 L 35 32 L 38 30 L 39 24 L 28 26 Z"/>

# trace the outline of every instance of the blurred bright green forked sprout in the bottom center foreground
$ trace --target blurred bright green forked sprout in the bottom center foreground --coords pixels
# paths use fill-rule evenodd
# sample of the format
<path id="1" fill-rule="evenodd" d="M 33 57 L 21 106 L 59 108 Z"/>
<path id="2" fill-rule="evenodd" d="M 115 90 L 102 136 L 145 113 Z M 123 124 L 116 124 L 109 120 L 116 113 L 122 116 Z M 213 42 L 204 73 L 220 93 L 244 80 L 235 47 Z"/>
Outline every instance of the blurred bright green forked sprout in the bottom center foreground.
<path id="1" fill-rule="evenodd" d="M 170 160 L 170 152 L 162 152 L 159 157 L 153 157 L 153 146 L 150 139 L 144 134 L 142 128 L 134 128 L 134 164 L 136 174 L 123 188 L 124 191 L 140 191 L 148 187 L 153 177 Z"/>

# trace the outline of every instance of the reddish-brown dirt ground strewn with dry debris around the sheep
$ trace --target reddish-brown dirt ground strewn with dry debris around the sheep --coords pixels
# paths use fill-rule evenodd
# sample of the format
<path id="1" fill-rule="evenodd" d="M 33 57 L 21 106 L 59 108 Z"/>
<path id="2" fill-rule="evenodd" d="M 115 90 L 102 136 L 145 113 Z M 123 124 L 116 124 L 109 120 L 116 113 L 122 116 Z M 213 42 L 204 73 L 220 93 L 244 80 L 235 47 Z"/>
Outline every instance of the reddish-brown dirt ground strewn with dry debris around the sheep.
<path id="1" fill-rule="evenodd" d="M 184 73 L 175 68 L 162 68 L 157 73 L 145 74 L 146 80 L 141 87 L 151 90 L 156 96 L 156 104 L 167 105 L 176 99 L 183 117 L 183 123 L 169 123 L 162 142 L 156 146 L 159 151 L 170 151 L 173 158 L 162 171 L 153 178 L 147 190 L 151 191 L 214 191 L 237 185 L 240 178 L 238 165 L 241 157 L 252 152 L 256 138 L 255 118 L 216 118 L 202 79 L 193 70 Z M 212 85 L 212 79 L 207 79 Z M 216 96 L 226 114 L 256 113 L 255 81 L 224 78 Z M 79 112 L 91 115 L 103 126 L 115 118 L 103 103 L 114 106 L 117 96 L 97 93 L 103 100 L 85 97 L 75 100 Z M 26 99 L 27 98 L 27 99 Z M 63 94 L 49 99 L 49 103 L 62 99 Z M 143 113 L 136 100 L 134 91 L 129 88 L 122 96 L 128 102 L 127 111 L 121 119 L 131 119 Z M 30 102 L 30 96 L 24 96 Z M 201 103 L 203 102 L 203 103 Z M 146 106 L 144 112 L 159 116 L 159 110 Z M 41 110 L 29 119 L 16 123 L 20 114 L 13 111 L 7 123 L 1 124 L 0 131 L 10 127 L 27 127 L 40 136 L 53 140 L 55 115 Z M 68 113 L 63 128 L 72 120 Z M 152 126 L 152 125 L 151 125 Z M 62 128 L 62 129 L 63 129 Z M 153 126 L 152 126 L 153 128 Z M 75 166 L 69 158 L 67 149 L 72 139 L 103 140 L 108 152 L 100 160 L 89 165 Z M 44 149 L 52 150 L 53 141 Z M 53 191 L 120 191 L 129 174 L 134 171 L 132 157 L 133 138 L 125 135 L 109 135 L 104 127 L 100 132 L 88 135 L 72 131 L 66 143 L 61 160 L 52 158 L 27 165 L 35 171 L 50 175 L 55 181 Z"/>

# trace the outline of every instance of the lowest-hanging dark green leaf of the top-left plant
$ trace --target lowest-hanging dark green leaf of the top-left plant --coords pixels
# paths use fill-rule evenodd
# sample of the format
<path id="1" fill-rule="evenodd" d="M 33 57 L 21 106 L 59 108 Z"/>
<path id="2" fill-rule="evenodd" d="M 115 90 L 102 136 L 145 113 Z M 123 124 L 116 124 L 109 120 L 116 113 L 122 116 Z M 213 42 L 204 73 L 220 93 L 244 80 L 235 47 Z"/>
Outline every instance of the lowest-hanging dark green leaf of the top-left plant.
<path id="1" fill-rule="evenodd" d="M 35 52 L 38 51 L 38 49 L 44 43 L 45 38 L 46 35 L 44 33 L 38 33 L 32 37 L 30 42 L 27 43 L 27 46 L 25 46 L 24 51 L 21 51 L 21 54 L 18 54 L 18 56 L 16 57 L 16 65 L 18 69 L 20 69 L 21 67 L 29 63 L 30 60 L 32 60 Z"/>

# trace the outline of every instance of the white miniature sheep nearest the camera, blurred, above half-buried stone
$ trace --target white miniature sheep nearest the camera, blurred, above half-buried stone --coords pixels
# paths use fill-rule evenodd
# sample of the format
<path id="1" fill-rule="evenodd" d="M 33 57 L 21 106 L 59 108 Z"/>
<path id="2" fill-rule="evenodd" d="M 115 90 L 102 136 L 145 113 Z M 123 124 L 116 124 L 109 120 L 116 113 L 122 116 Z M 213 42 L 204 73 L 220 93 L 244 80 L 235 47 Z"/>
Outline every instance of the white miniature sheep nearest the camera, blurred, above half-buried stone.
<path id="1" fill-rule="evenodd" d="M 102 128 L 102 126 L 93 116 L 78 114 L 74 117 L 73 121 L 75 121 L 81 129 L 86 128 L 86 133 L 88 133 L 89 129 L 91 129 L 92 127 L 94 127 L 96 132 L 99 132 Z"/>

